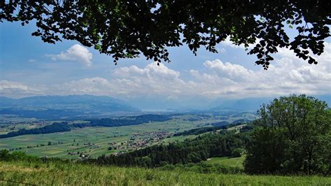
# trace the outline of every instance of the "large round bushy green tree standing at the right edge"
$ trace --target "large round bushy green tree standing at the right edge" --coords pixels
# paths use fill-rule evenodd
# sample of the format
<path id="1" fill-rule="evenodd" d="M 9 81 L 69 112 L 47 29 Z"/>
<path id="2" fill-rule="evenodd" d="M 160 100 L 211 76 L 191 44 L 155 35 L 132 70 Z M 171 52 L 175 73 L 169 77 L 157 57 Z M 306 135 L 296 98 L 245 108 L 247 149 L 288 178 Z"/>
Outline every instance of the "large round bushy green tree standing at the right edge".
<path id="1" fill-rule="evenodd" d="M 311 96 L 274 99 L 258 110 L 247 145 L 248 173 L 331 173 L 331 110 Z"/>

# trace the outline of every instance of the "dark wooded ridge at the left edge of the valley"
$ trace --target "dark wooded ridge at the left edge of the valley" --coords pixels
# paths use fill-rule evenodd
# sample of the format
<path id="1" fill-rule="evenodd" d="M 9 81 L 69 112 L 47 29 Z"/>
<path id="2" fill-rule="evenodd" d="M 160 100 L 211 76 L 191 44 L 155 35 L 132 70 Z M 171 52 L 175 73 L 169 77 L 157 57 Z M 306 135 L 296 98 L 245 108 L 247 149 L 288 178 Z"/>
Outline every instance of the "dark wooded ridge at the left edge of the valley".
<path id="1" fill-rule="evenodd" d="M 50 134 L 61 131 L 71 131 L 71 128 L 68 127 L 67 122 L 54 122 L 50 125 L 38 129 L 20 129 L 19 131 L 12 131 L 9 132 L 8 134 L 1 134 L 0 138 L 10 138 L 10 137 L 22 136 L 26 134 Z"/>

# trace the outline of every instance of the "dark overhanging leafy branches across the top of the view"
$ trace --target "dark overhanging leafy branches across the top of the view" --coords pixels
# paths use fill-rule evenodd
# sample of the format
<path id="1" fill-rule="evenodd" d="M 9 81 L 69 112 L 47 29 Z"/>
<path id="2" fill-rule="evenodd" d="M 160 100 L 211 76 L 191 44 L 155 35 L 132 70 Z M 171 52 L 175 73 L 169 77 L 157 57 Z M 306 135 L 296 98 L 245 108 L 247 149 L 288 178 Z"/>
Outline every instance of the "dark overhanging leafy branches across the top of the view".
<path id="1" fill-rule="evenodd" d="M 330 36 L 328 0 L 244 1 L 0 1 L 0 21 L 33 21 L 32 33 L 44 42 L 61 38 L 94 47 L 106 55 L 170 62 L 168 47 L 187 44 L 196 55 L 230 37 L 235 45 L 258 42 L 249 51 L 267 69 L 277 48 L 290 48 L 297 57 L 317 64 Z M 290 41 L 285 25 L 297 30 Z"/>

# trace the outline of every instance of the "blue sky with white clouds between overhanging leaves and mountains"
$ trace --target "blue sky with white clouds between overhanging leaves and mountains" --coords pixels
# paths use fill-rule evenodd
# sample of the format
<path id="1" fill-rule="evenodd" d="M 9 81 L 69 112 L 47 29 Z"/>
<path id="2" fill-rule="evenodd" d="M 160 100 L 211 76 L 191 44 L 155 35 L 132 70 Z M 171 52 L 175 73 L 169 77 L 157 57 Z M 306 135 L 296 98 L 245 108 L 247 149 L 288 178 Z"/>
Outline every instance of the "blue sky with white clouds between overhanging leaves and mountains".
<path id="1" fill-rule="evenodd" d="M 93 94 L 124 100 L 189 98 L 240 99 L 288 94 L 330 94 L 331 39 L 311 65 L 288 49 L 279 49 L 267 71 L 256 56 L 224 41 L 219 53 L 184 45 L 169 48 L 170 63 L 157 66 L 145 57 L 120 59 L 76 41 L 43 43 L 31 36 L 34 24 L 0 23 L 0 96 Z M 288 29 L 290 34 L 295 30 Z"/>

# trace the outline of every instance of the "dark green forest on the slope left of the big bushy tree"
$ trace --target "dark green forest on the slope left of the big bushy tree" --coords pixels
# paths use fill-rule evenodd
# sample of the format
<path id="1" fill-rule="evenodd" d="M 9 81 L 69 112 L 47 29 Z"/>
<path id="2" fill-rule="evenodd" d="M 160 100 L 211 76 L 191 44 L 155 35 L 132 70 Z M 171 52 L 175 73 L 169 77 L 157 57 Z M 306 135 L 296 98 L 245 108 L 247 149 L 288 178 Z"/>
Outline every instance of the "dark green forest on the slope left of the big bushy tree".
<path id="1" fill-rule="evenodd" d="M 122 155 L 103 155 L 98 159 L 87 161 L 97 164 L 145 167 L 198 163 L 209 157 L 230 157 L 235 149 L 244 148 L 248 141 L 249 137 L 246 134 L 205 134 L 182 142 L 154 145 Z"/>

